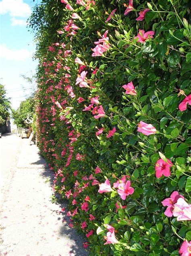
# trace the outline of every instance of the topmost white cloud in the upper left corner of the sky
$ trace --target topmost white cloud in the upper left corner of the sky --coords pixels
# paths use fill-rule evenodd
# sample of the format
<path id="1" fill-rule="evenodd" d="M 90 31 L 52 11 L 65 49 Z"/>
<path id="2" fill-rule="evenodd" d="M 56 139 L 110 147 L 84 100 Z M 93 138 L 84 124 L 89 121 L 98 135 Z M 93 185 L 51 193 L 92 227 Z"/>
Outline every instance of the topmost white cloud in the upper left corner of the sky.
<path id="1" fill-rule="evenodd" d="M 23 0 L 2 0 L 0 14 L 9 13 L 11 17 L 29 17 L 31 8 Z"/>

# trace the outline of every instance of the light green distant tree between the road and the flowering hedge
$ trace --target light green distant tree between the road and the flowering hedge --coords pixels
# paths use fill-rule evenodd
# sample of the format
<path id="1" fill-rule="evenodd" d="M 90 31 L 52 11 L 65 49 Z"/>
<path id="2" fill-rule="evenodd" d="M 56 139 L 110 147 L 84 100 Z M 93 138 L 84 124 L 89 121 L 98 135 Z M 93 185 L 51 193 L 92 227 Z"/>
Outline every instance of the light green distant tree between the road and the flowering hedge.
<path id="1" fill-rule="evenodd" d="M 29 128 L 31 124 L 25 122 L 27 119 L 27 115 L 29 114 L 29 118 L 33 117 L 34 113 L 34 98 L 28 97 L 24 101 L 22 101 L 17 110 L 12 110 L 12 118 L 14 119 L 14 123 L 17 125 L 17 128 Z"/>

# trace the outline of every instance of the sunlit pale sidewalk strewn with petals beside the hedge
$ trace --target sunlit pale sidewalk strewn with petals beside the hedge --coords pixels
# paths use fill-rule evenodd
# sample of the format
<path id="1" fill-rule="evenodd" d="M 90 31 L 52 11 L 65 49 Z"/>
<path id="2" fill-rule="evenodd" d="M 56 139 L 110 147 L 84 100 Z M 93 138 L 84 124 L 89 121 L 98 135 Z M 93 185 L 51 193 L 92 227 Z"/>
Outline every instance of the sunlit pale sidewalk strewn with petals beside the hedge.
<path id="1" fill-rule="evenodd" d="M 0 211 L 0 255 L 86 256 L 83 238 L 70 228 L 66 212 L 51 202 L 54 173 L 35 145 L 23 139 Z"/>

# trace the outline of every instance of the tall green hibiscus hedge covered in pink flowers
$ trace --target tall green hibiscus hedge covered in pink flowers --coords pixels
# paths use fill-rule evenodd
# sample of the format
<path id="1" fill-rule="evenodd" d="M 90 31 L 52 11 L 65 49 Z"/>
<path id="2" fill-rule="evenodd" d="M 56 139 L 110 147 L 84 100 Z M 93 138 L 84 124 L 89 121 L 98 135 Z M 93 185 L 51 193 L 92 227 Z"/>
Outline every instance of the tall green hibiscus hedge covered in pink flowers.
<path id="1" fill-rule="evenodd" d="M 33 10 L 39 148 L 90 255 L 191 255 L 189 13 L 188 0 Z"/>

